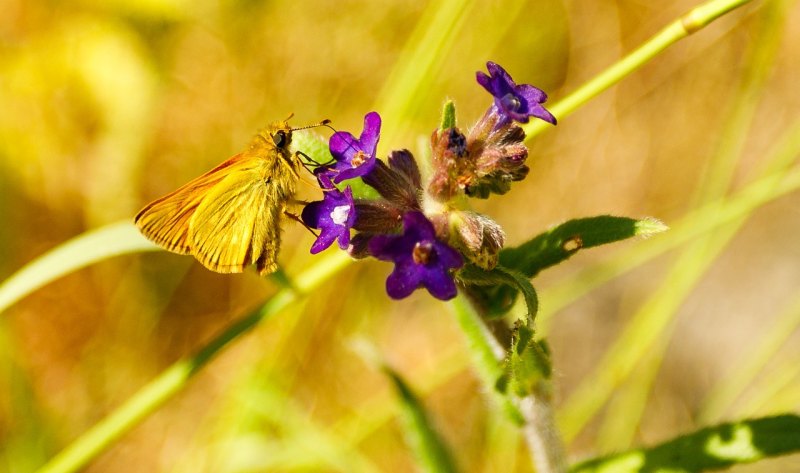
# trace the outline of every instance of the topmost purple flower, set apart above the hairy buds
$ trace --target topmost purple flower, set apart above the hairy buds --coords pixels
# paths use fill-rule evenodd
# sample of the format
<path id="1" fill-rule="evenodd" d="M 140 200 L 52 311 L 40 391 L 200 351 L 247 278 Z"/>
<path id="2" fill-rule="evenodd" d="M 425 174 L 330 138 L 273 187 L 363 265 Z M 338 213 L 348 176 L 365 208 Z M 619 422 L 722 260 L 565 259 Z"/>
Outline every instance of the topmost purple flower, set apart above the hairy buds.
<path id="1" fill-rule="evenodd" d="M 486 63 L 486 68 L 489 75 L 478 71 L 476 78 L 494 96 L 494 111 L 500 116 L 495 128 L 511 121 L 528 123 L 528 117 L 556 124 L 556 117 L 542 106 L 547 94 L 529 84 L 517 85 L 505 69 L 491 61 Z"/>

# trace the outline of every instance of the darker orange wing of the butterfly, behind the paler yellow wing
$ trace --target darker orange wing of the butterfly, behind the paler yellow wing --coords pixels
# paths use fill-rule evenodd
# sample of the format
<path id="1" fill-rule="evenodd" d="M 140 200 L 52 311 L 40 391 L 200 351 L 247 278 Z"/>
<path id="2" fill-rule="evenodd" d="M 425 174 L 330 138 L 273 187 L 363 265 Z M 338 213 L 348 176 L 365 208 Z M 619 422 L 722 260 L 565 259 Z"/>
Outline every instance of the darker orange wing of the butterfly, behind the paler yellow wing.
<path id="1" fill-rule="evenodd" d="M 189 221 L 208 193 L 231 172 L 246 165 L 236 155 L 214 169 L 151 202 L 136 215 L 136 226 L 144 236 L 173 253 L 192 253 Z"/>

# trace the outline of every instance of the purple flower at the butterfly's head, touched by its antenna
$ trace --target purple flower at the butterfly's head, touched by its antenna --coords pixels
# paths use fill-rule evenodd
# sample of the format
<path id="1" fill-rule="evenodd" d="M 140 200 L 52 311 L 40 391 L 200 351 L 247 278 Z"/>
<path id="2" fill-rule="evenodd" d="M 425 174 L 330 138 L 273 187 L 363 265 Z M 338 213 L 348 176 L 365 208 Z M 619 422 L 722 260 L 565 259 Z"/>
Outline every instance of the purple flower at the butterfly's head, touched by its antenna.
<path id="1" fill-rule="evenodd" d="M 336 163 L 327 169 L 333 182 L 361 177 L 375 167 L 375 150 L 381 133 L 381 116 L 370 112 L 364 117 L 364 131 L 356 139 L 346 131 L 338 131 L 331 136 L 328 146 Z"/>

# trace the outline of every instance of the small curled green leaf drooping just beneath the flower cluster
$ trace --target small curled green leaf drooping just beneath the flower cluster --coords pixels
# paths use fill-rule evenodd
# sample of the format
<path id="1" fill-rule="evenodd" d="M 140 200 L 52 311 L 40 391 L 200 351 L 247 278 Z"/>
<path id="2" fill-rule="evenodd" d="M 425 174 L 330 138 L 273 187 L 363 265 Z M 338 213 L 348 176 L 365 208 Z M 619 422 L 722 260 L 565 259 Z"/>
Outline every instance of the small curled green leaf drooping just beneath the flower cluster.
<path id="1" fill-rule="evenodd" d="M 528 307 L 529 323 L 532 323 L 536 318 L 536 313 L 539 311 L 539 298 L 529 278 L 519 271 L 504 268 L 501 265 L 497 265 L 494 269 L 487 271 L 469 264 L 458 273 L 458 277 L 467 284 L 470 297 L 483 306 L 484 309 L 487 309 L 485 314 L 488 317 L 496 317 L 505 313 L 505 311 L 498 312 L 491 309 L 497 306 L 495 296 L 497 290 L 499 288 L 508 288 L 509 291 L 512 291 L 510 302 L 513 302 L 517 291 L 522 292 L 523 297 L 525 297 L 525 305 Z"/>

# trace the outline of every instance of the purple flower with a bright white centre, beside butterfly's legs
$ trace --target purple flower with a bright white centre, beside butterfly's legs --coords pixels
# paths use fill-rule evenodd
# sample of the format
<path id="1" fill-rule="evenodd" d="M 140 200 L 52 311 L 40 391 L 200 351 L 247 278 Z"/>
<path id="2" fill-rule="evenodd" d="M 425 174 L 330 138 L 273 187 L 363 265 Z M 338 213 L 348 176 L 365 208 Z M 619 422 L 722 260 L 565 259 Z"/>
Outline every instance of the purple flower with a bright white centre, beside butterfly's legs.
<path id="1" fill-rule="evenodd" d="M 311 202 L 303 208 L 301 218 L 309 227 L 320 230 L 317 241 L 311 245 L 312 254 L 331 246 L 337 239 L 339 247 L 347 249 L 350 228 L 356 221 L 353 191 L 350 186 L 344 192 L 336 189 L 326 191 L 323 200 Z"/>

